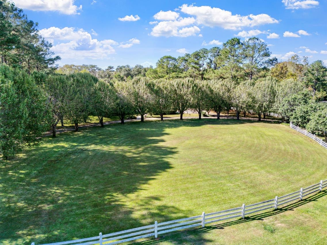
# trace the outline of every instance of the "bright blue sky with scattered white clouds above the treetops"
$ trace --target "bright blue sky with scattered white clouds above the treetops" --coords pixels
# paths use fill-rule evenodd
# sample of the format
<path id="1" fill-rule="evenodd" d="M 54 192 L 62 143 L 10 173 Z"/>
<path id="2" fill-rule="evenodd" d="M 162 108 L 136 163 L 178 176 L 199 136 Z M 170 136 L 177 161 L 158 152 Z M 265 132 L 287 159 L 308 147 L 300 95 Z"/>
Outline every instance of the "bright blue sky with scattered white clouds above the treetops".
<path id="1" fill-rule="evenodd" d="M 153 65 L 233 37 L 263 39 L 280 61 L 327 64 L 327 0 L 12 0 L 63 64 Z"/>

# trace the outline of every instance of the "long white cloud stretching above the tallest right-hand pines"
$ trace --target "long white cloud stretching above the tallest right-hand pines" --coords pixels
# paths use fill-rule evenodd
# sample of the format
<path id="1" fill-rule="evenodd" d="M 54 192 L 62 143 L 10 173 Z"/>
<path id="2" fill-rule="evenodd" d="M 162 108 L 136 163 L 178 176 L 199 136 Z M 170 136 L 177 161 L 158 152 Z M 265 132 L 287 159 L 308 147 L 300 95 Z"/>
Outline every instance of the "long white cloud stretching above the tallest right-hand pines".
<path id="1" fill-rule="evenodd" d="M 232 15 L 232 12 L 220 8 L 212 8 L 210 6 L 193 6 L 183 4 L 181 12 L 196 17 L 198 24 L 206 26 L 220 26 L 224 29 L 237 30 L 245 26 L 256 26 L 262 24 L 279 23 L 278 20 L 267 14 Z"/>

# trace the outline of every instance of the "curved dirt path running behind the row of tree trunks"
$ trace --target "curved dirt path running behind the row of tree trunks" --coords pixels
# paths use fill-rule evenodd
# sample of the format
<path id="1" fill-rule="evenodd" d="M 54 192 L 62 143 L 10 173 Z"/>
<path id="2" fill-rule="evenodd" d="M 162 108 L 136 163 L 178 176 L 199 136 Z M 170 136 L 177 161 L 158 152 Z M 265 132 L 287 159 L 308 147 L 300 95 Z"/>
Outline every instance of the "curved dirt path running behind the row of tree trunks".
<path id="1" fill-rule="evenodd" d="M 187 117 L 187 116 L 183 116 L 184 119 L 192 119 L 192 118 L 198 118 L 198 117 Z M 211 117 L 204 117 L 204 118 L 210 118 L 210 119 L 216 119 L 216 116 L 211 115 Z M 221 115 L 220 116 L 221 119 L 236 119 L 236 117 L 233 116 L 225 116 L 225 115 Z M 180 117 L 163 117 L 164 120 L 167 119 L 180 119 Z M 240 117 L 241 120 L 251 120 L 251 121 L 258 121 L 257 118 L 249 118 L 249 117 Z M 157 117 L 145 117 L 144 121 L 153 121 L 153 120 L 160 120 L 160 118 Z M 276 120 L 272 120 L 272 119 L 261 119 L 262 122 L 275 122 Z M 137 117 L 136 119 L 127 119 L 125 120 L 125 123 L 128 122 L 138 122 L 141 121 L 141 117 Z M 116 121 L 110 121 L 110 122 L 104 122 L 104 125 L 108 125 L 108 124 L 113 124 L 113 123 L 121 123 L 120 120 L 116 120 Z M 78 126 L 78 129 L 83 129 L 83 128 L 90 128 L 90 127 L 100 127 L 101 124 L 100 123 L 89 123 L 89 124 L 84 124 L 84 125 L 80 125 Z M 67 127 L 67 128 L 58 128 L 56 130 L 57 134 L 60 133 L 65 133 L 65 132 L 71 132 L 74 131 L 75 128 L 74 127 Z M 43 133 L 43 137 L 45 136 L 52 136 L 52 130 L 49 130 L 45 133 Z"/>

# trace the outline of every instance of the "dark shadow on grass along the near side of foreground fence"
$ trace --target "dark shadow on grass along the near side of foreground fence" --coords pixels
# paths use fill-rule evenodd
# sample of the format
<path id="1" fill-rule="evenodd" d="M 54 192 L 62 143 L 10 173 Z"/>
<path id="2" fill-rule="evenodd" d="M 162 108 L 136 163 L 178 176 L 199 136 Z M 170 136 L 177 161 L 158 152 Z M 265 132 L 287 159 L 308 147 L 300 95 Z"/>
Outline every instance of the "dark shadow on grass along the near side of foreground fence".
<path id="1" fill-rule="evenodd" d="M 281 208 L 278 208 L 273 211 L 267 211 L 259 214 L 254 214 L 251 216 L 246 216 L 245 219 L 237 219 L 233 221 L 228 221 L 228 222 L 220 222 L 218 224 L 213 224 L 206 226 L 204 228 L 195 228 L 195 229 L 189 229 L 189 230 L 182 230 L 182 231 L 176 231 L 170 234 L 166 235 L 161 235 L 158 237 L 158 239 L 150 239 L 150 240 L 145 240 L 141 241 L 135 244 L 139 245 L 148 245 L 148 244 L 157 244 L 163 241 L 176 241 L 179 243 L 185 242 L 188 243 L 190 242 L 191 244 L 205 244 L 207 242 L 210 242 L 210 240 L 205 239 L 201 237 L 199 234 L 210 231 L 210 230 L 216 230 L 216 229 L 224 229 L 225 227 L 232 226 L 232 225 L 237 225 L 245 222 L 250 222 L 250 221 L 263 221 L 264 218 L 277 215 L 280 213 L 284 213 L 286 211 L 294 211 L 295 208 L 300 207 L 304 204 L 310 203 L 310 202 L 317 202 L 319 198 L 324 197 L 327 195 L 327 190 L 322 190 L 321 192 L 318 192 L 312 196 L 307 197 L 306 199 L 303 199 L 302 201 L 298 201 L 296 203 L 292 203 L 286 206 L 283 206 Z"/>

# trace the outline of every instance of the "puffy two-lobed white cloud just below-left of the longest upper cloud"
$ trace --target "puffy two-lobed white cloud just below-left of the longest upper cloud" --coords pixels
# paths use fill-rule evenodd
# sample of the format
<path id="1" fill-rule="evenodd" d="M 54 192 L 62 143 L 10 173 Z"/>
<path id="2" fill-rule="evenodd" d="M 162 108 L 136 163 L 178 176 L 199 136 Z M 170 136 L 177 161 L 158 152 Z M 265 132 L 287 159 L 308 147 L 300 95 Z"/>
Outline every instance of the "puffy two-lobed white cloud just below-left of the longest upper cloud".
<path id="1" fill-rule="evenodd" d="M 191 27 L 183 27 L 191 25 L 195 22 L 193 17 L 179 18 L 175 21 L 161 21 L 152 28 L 151 35 L 154 37 L 189 37 L 195 36 L 200 28 L 196 25 Z"/>

